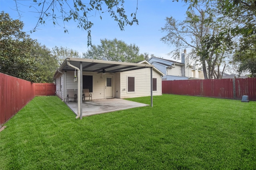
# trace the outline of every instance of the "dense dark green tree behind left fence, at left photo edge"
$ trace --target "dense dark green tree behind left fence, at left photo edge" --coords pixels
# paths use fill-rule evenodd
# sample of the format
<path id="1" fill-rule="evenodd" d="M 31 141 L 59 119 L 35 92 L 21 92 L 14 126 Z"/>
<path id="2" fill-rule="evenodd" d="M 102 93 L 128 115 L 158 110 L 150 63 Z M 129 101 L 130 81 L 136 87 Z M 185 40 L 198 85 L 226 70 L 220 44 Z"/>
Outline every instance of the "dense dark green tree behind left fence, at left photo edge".
<path id="1" fill-rule="evenodd" d="M 0 72 L 33 82 L 37 58 L 30 52 L 35 41 L 22 31 L 23 26 L 22 21 L 0 13 Z"/>

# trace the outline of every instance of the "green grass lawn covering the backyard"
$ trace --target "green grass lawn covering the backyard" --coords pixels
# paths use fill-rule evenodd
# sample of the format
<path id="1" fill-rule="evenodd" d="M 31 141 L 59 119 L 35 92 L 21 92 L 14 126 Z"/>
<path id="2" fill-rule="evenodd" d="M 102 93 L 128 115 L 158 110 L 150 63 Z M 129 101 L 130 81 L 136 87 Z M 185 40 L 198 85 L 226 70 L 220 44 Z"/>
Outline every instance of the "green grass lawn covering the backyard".
<path id="1" fill-rule="evenodd" d="M 164 94 L 80 120 L 44 96 L 5 125 L 1 170 L 256 168 L 256 102 Z"/>

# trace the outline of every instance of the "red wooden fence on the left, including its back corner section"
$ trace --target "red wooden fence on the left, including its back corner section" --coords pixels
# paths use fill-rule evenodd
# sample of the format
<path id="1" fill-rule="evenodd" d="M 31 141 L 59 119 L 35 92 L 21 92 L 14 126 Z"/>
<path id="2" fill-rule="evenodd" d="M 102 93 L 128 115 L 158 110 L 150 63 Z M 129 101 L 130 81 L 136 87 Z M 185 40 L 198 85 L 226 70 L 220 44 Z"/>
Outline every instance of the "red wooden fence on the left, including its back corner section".
<path id="1" fill-rule="evenodd" d="M 55 91 L 54 83 L 32 83 L 0 73 L 0 125 L 35 96 L 55 95 Z"/>

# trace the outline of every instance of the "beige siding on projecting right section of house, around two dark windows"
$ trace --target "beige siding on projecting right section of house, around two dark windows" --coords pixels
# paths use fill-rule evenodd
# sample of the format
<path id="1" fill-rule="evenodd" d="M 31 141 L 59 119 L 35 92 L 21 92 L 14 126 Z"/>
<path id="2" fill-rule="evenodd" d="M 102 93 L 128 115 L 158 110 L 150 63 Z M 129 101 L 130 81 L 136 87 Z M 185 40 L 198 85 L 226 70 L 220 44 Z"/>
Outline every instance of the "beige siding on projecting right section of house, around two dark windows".
<path id="1" fill-rule="evenodd" d="M 128 77 L 134 77 L 134 92 L 128 92 Z M 162 79 L 161 76 L 153 70 L 153 78 L 157 79 L 157 90 L 153 91 L 153 95 L 162 95 Z M 120 73 L 120 98 L 135 98 L 142 96 L 150 96 L 150 68 L 132 70 Z"/>

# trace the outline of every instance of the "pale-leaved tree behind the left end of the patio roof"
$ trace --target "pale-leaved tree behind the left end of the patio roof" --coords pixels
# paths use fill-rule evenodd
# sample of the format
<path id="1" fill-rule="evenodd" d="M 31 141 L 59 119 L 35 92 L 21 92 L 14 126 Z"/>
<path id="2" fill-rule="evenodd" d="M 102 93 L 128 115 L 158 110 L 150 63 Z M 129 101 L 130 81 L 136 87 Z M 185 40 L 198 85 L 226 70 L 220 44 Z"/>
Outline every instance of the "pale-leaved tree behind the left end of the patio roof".
<path id="1" fill-rule="evenodd" d="M 73 50 L 73 49 L 68 49 L 67 47 L 57 47 L 55 46 L 52 48 L 52 53 L 54 57 L 58 60 L 58 63 L 63 63 L 63 61 L 68 58 L 68 57 L 76 57 L 80 58 L 80 54 L 78 51 Z"/>

